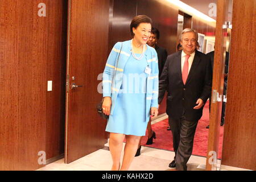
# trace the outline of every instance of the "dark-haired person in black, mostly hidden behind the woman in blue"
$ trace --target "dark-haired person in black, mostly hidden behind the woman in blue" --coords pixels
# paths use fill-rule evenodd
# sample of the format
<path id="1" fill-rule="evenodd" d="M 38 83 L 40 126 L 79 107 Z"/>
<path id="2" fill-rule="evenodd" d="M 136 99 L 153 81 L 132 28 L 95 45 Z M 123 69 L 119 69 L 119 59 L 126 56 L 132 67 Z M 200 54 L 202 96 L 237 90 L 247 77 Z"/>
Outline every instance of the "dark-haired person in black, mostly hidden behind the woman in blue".
<path id="1" fill-rule="evenodd" d="M 167 53 L 166 49 L 159 47 L 157 45 L 159 38 L 160 38 L 159 30 L 157 28 L 152 27 L 151 35 L 150 35 L 150 38 L 148 39 L 147 44 L 148 44 L 148 46 L 154 47 L 156 53 L 158 53 L 158 69 L 159 69 L 159 77 L 160 77 L 163 67 L 164 67 L 164 63 L 166 63 L 166 58 L 167 58 L 168 53 Z M 148 139 L 147 139 L 146 144 L 152 144 L 153 138 L 154 139 L 156 138 L 156 134 L 155 134 L 155 131 L 152 130 L 151 119 L 147 123 L 147 131 L 148 131 Z M 141 140 L 139 141 L 138 150 L 137 150 L 135 156 L 139 156 L 139 155 L 141 155 Z"/>

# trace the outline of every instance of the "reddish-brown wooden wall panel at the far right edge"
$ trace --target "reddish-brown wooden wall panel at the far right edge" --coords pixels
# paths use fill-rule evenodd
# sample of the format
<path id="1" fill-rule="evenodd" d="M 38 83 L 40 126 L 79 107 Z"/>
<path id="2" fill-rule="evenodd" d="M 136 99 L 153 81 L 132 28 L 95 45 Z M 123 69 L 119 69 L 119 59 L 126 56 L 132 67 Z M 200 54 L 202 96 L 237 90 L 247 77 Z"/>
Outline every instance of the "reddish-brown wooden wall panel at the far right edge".
<path id="1" fill-rule="evenodd" d="M 256 1 L 233 1 L 232 21 L 221 164 L 256 170 Z"/>

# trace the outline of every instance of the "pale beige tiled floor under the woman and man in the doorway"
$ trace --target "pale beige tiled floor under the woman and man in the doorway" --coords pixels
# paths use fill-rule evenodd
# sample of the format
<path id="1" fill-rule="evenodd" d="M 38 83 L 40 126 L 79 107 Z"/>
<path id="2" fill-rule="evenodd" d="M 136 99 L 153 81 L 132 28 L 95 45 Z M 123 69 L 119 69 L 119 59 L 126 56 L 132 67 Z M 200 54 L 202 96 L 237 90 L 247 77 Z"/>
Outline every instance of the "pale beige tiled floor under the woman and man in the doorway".
<path id="1" fill-rule="evenodd" d="M 123 147 L 125 143 L 123 143 Z M 106 147 L 108 148 L 108 144 Z M 123 155 L 123 153 L 122 153 Z M 130 166 L 131 171 L 163 171 L 170 169 L 169 163 L 174 159 L 174 152 L 159 150 L 156 148 L 143 147 L 141 155 L 134 158 Z M 197 168 L 200 164 L 205 164 L 206 158 L 200 156 L 191 156 L 188 162 L 188 170 L 201 170 Z M 86 155 L 75 162 L 65 164 L 64 159 L 57 160 L 47 166 L 40 168 L 40 171 L 65 171 L 65 170 L 85 170 L 85 171 L 108 171 L 112 167 L 112 158 L 110 152 L 106 149 L 100 149 L 92 154 Z"/>

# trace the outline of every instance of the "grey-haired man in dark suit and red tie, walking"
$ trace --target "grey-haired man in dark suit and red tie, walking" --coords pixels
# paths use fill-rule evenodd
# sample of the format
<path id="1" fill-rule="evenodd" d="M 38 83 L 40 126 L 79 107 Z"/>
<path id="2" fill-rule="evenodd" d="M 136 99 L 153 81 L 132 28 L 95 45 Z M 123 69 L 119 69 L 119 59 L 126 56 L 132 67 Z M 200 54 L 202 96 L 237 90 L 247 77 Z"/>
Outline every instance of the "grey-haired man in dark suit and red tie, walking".
<path id="1" fill-rule="evenodd" d="M 180 35 L 183 51 L 169 55 L 159 79 L 160 104 L 168 90 L 167 111 L 171 126 L 175 158 L 169 167 L 187 170 L 193 150 L 197 122 L 212 89 L 210 59 L 196 51 L 198 34 L 185 28 Z"/>

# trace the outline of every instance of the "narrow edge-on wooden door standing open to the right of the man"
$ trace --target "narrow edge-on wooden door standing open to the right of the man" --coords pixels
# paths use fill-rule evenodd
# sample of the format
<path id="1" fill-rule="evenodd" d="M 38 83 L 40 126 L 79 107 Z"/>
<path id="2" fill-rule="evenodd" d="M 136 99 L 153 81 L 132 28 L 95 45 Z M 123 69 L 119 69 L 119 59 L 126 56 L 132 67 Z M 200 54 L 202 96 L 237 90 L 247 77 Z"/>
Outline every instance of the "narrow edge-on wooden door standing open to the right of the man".
<path id="1" fill-rule="evenodd" d="M 228 0 L 218 0 L 217 3 L 217 22 L 216 22 L 216 42 L 214 49 L 213 82 L 212 82 L 212 100 L 210 105 L 210 122 L 208 137 L 208 152 L 206 169 L 217 170 L 218 139 L 220 137 L 220 121 L 222 100 L 219 97 L 223 95 L 224 68 L 226 55 L 225 33 L 227 28 L 222 28 L 228 19 Z M 218 93 L 218 95 L 216 95 Z M 216 159 L 216 160 L 215 160 Z"/>

